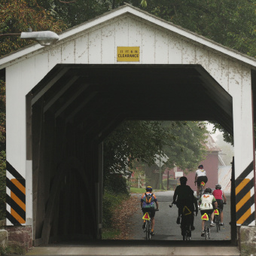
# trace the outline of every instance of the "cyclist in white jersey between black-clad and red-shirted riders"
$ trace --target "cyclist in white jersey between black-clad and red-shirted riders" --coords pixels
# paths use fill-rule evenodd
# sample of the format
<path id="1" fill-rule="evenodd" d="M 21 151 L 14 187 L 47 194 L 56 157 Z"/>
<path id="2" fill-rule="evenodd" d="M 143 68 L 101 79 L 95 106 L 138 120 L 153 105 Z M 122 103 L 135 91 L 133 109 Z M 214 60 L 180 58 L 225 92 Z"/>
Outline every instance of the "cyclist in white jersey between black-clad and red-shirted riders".
<path id="1" fill-rule="evenodd" d="M 204 215 L 205 213 L 208 215 L 209 218 L 211 218 L 213 209 L 217 209 L 218 203 L 215 200 L 215 197 L 212 195 L 212 189 L 207 187 L 205 190 L 205 193 L 199 200 L 199 206 L 200 206 L 200 212 L 201 215 Z M 213 224 L 213 221 L 211 221 L 211 226 L 213 227 L 215 224 Z M 202 233 L 201 236 L 205 236 L 205 221 L 202 220 Z"/>

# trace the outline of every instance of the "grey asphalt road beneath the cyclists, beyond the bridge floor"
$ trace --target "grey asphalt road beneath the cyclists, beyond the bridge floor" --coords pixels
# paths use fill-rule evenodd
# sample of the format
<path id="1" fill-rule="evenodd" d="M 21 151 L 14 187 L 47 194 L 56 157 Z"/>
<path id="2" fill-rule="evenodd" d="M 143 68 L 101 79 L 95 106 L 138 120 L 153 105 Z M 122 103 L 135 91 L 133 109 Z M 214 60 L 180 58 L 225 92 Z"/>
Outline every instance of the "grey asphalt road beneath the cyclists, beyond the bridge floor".
<path id="1" fill-rule="evenodd" d="M 169 208 L 173 198 L 173 191 L 156 192 L 157 200 L 159 202 L 160 211 L 156 212 L 156 224 L 154 227 L 154 240 L 182 240 L 180 225 L 176 224 L 178 217 L 178 208 L 173 205 Z M 138 201 L 140 195 L 136 195 Z M 216 228 L 211 229 L 211 240 L 230 240 L 230 195 L 227 195 L 227 205 L 224 206 L 224 227 L 221 227 L 220 232 L 217 233 Z M 142 230 L 142 211 L 139 209 L 130 220 L 133 225 L 130 233 L 130 239 L 145 239 L 145 233 Z M 201 236 L 201 215 L 200 212 L 195 217 L 194 226 L 196 230 L 192 232 L 193 240 L 205 240 Z"/>

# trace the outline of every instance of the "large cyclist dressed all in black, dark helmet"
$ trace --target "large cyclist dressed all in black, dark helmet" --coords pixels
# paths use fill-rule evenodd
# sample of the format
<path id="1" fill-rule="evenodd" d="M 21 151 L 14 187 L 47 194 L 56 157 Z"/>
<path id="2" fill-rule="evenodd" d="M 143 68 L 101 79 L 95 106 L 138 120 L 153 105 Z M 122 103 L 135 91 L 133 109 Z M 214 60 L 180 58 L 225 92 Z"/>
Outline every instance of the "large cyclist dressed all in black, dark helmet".
<path id="1" fill-rule="evenodd" d="M 179 181 L 181 184 L 176 187 L 172 202 L 178 207 L 178 218 L 176 223 L 181 223 L 181 213 L 184 209 L 184 206 L 187 206 L 187 208 L 190 209 L 190 212 L 192 212 L 191 216 L 193 216 L 193 218 L 191 218 L 191 230 L 194 230 L 194 206 L 196 208 L 196 215 L 198 212 L 197 200 L 195 200 L 194 197 L 194 190 L 192 190 L 191 187 L 187 185 L 186 177 L 181 177 Z"/>

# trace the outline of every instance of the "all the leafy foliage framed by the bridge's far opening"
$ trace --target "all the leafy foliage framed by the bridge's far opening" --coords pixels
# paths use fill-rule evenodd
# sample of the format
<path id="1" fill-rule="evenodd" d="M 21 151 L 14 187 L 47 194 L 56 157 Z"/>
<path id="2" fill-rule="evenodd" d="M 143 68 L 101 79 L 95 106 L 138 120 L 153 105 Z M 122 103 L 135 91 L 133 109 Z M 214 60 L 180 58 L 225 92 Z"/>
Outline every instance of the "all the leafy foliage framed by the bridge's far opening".
<path id="1" fill-rule="evenodd" d="M 126 172 L 136 161 L 154 165 L 157 154 L 169 157 L 166 167 L 194 169 L 205 156 L 206 133 L 204 123 L 192 121 L 123 122 L 104 142 L 105 175 Z"/>

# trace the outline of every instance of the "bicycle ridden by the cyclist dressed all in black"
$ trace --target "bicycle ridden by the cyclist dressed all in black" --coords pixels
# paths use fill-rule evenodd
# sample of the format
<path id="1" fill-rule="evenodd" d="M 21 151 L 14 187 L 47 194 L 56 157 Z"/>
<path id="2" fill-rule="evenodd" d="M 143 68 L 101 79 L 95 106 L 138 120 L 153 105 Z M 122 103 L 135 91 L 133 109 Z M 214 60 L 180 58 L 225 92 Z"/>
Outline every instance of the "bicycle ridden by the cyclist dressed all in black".
<path id="1" fill-rule="evenodd" d="M 169 207 L 172 208 L 172 205 Z M 191 218 L 193 218 L 193 213 L 187 206 L 184 206 L 181 213 L 181 236 L 183 236 L 183 240 L 191 240 Z"/>

